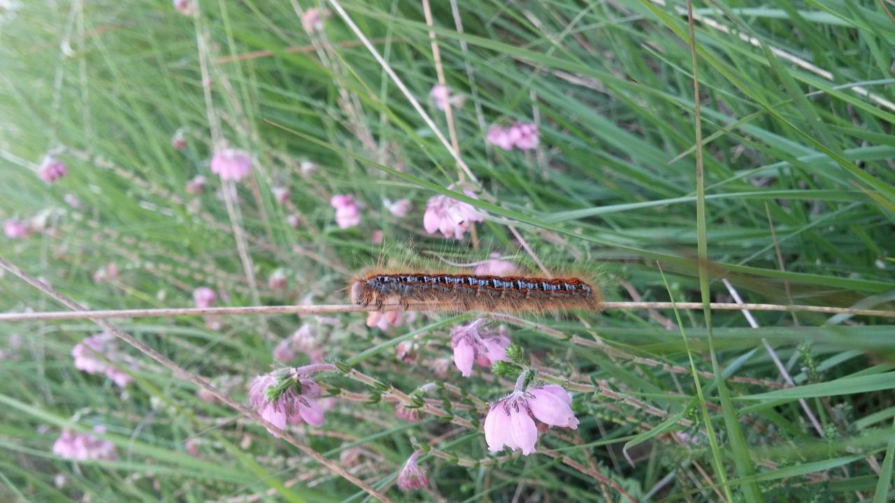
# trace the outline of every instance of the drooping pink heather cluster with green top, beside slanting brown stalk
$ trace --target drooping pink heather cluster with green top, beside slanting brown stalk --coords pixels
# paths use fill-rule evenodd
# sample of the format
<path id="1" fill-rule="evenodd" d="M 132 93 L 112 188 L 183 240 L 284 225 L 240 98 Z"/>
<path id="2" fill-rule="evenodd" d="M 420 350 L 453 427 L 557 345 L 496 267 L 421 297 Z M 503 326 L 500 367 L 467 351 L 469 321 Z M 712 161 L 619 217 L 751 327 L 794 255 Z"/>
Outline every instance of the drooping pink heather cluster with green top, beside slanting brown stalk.
<path id="1" fill-rule="evenodd" d="M 323 424 L 323 408 L 316 400 L 320 397 L 320 386 L 316 382 L 312 379 L 299 379 L 301 391 L 296 386 L 290 387 L 277 400 L 270 402 L 266 391 L 276 386 L 278 380 L 277 375 L 268 373 L 251 381 L 249 401 L 261 417 L 280 430 L 286 429 L 286 422 L 292 424 L 307 422 L 314 426 Z M 276 432 L 269 429 L 268 431 L 274 437 L 279 437 Z"/>

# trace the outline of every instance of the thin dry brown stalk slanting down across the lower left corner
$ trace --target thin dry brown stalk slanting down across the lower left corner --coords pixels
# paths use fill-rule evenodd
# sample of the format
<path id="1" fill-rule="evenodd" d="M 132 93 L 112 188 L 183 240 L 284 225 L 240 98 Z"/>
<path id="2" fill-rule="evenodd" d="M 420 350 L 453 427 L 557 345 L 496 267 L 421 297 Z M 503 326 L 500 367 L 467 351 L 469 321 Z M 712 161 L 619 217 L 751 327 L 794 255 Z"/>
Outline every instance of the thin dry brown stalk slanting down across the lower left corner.
<path id="1" fill-rule="evenodd" d="M 41 282 L 40 280 L 38 280 L 38 278 L 32 277 L 32 276 L 30 276 L 30 274 L 17 268 L 12 262 L 5 260 L 3 258 L 0 258 L 0 267 L 13 273 L 14 276 L 20 277 L 25 282 L 30 284 L 30 286 L 34 286 L 35 288 L 37 288 L 44 294 L 47 294 L 48 296 L 55 299 L 55 301 L 57 301 L 58 303 L 62 303 L 63 305 L 72 309 L 73 311 L 85 311 L 85 309 L 80 304 L 75 303 L 68 297 L 57 292 L 55 289 L 51 288 L 50 286 L 47 286 L 47 284 Z M 369 493 L 374 498 L 377 498 L 381 501 L 391 501 L 391 499 L 388 499 L 384 494 L 380 493 L 378 490 L 373 489 L 366 482 L 363 482 L 362 480 L 355 477 L 353 474 L 345 471 L 345 469 L 342 468 L 337 463 L 320 455 L 319 452 L 315 451 L 311 447 L 298 441 L 298 439 L 295 439 L 294 436 L 292 436 L 287 431 L 284 431 L 284 430 L 281 430 L 280 428 L 278 428 L 277 425 L 275 425 L 271 422 L 268 422 L 266 419 L 261 417 L 259 413 L 252 411 L 251 409 L 245 407 L 244 405 L 240 405 L 240 404 L 236 403 L 234 401 L 234 399 L 231 398 L 230 396 L 228 396 L 226 393 L 211 386 L 211 384 L 209 384 L 209 381 L 202 379 L 199 376 L 192 374 L 189 371 L 184 370 L 182 367 L 177 365 L 177 363 L 167 359 L 164 355 L 158 353 L 156 350 L 149 347 L 149 345 L 145 345 L 141 341 L 137 340 L 136 338 L 134 338 L 131 335 L 122 331 L 120 328 L 115 327 L 115 325 L 109 323 L 108 321 L 97 319 L 97 318 L 90 318 L 90 320 L 93 321 L 94 323 L 96 323 L 97 325 L 99 325 L 100 327 L 106 329 L 113 335 L 115 335 L 115 337 L 120 338 L 125 343 L 132 345 L 134 348 L 139 350 L 142 354 L 146 354 L 147 356 L 149 356 L 156 362 L 161 363 L 167 369 L 169 369 L 170 371 L 173 371 L 175 373 L 175 376 L 192 382 L 199 388 L 202 388 L 205 391 L 208 391 L 212 396 L 215 396 L 215 398 L 217 398 L 221 402 L 232 407 L 235 411 L 242 413 L 244 416 L 248 417 L 249 419 L 251 419 L 254 422 L 257 422 L 261 426 L 264 426 L 268 430 L 275 431 L 280 436 L 280 438 L 285 439 L 287 442 L 292 444 L 295 448 L 298 448 L 299 450 L 301 450 L 304 454 L 311 456 L 312 458 L 317 460 L 321 465 L 326 466 L 333 473 L 336 473 L 337 475 L 344 478 L 345 480 L 354 483 L 354 485 L 361 488 L 362 490 L 365 490 L 367 493 Z"/>

